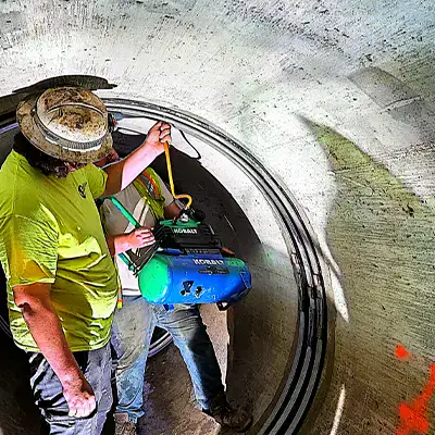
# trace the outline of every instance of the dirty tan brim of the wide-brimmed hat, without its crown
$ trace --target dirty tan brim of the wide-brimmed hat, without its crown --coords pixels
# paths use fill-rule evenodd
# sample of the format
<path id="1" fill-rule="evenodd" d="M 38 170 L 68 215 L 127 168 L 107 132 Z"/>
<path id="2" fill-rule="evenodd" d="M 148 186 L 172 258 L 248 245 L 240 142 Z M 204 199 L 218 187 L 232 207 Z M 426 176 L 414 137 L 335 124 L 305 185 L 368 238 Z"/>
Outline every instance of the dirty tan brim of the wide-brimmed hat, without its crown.
<path id="1" fill-rule="evenodd" d="M 27 97 L 16 109 L 16 121 L 23 135 L 39 150 L 71 163 L 91 163 L 104 158 L 113 146 L 112 135 L 108 134 L 99 149 L 72 151 L 46 139 L 34 119 L 35 104 L 39 95 Z"/>

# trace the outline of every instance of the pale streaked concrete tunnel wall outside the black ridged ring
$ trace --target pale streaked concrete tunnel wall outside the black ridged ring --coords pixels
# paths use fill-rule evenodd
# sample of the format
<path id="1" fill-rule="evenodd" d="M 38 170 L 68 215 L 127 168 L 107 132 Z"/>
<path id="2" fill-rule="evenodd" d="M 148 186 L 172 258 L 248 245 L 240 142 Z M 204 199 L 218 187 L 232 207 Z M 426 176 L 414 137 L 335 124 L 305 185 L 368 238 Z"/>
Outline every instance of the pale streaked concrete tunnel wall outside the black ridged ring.
<path id="1" fill-rule="evenodd" d="M 1 95 L 49 76 L 105 77 L 117 88 L 102 96 L 224 129 L 296 198 L 330 298 L 328 364 L 307 433 L 434 433 L 434 9 L 0 3 Z M 249 196 L 238 202 L 256 212 Z"/>

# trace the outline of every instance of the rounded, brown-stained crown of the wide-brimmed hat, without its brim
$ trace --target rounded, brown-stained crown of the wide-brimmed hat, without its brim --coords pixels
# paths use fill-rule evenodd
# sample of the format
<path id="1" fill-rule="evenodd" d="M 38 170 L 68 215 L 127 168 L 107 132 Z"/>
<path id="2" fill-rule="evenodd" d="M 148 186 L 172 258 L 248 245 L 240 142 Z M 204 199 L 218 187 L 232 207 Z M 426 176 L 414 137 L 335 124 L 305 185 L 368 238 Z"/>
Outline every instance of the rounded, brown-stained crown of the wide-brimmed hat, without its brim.
<path id="1" fill-rule="evenodd" d="M 35 109 L 48 132 L 77 145 L 99 141 L 108 133 L 108 111 L 87 89 L 48 89 L 39 96 Z"/>

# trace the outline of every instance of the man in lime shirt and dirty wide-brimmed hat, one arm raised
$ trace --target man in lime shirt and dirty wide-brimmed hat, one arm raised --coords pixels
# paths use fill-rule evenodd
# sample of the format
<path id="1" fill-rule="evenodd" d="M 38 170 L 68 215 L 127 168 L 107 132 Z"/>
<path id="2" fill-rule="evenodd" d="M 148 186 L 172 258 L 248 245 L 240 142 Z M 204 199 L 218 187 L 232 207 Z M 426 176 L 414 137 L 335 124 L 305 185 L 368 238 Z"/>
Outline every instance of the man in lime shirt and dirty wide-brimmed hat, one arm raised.
<path id="1" fill-rule="evenodd" d="M 111 408 L 110 327 L 117 277 L 95 199 L 124 189 L 163 151 L 157 123 L 128 159 L 112 148 L 110 116 L 87 89 L 55 88 L 17 109 L 21 133 L 0 170 L 0 261 L 11 331 L 29 358 L 49 434 L 100 434 Z"/>

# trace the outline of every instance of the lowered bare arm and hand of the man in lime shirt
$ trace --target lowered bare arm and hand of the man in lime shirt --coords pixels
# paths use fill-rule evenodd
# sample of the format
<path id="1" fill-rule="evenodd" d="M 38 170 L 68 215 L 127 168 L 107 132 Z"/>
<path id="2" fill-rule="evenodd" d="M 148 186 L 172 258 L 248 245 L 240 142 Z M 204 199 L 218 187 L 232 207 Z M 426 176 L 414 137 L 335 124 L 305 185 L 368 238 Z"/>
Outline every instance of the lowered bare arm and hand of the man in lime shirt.
<path id="1" fill-rule="evenodd" d="M 58 375 L 72 417 L 87 417 L 96 408 L 89 383 L 66 343 L 59 316 L 50 301 L 50 284 L 14 286 L 13 295 L 32 336 Z"/>

